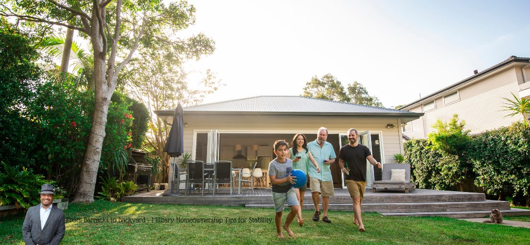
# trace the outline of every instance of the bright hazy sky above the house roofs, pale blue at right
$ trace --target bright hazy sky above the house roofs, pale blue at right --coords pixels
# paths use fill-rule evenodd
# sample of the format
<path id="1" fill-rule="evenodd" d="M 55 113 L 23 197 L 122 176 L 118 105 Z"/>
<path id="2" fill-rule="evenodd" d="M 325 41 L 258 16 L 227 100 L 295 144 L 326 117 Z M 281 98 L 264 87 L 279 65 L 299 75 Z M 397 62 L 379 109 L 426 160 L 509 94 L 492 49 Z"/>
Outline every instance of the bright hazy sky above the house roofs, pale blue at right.
<path id="1" fill-rule="evenodd" d="M 510 56 L 530 57 L 530 1 L 189 0 L 213 55 L 190 61 L 226 86 L 204 103 L 301 95 L 313 76 L 358 81 L 385 107 L 408 104 Z"/>

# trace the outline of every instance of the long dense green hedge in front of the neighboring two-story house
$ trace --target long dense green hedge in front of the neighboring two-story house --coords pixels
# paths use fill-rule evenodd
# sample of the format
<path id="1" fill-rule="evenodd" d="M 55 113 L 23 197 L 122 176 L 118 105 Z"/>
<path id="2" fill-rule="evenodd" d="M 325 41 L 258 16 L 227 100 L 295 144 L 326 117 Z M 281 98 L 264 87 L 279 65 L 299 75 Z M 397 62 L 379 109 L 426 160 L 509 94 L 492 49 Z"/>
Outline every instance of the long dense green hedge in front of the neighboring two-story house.
<path id="1" fill-rule="evenodd" d="M 420 188 L 462 190 L 457 187 L 473 180 L 486 194 L 522 196 L 530 205 L 530 128 L 523 123 L 474 135 L 458 152 L 413 139 L 404 143 L 404 154 Z"/>

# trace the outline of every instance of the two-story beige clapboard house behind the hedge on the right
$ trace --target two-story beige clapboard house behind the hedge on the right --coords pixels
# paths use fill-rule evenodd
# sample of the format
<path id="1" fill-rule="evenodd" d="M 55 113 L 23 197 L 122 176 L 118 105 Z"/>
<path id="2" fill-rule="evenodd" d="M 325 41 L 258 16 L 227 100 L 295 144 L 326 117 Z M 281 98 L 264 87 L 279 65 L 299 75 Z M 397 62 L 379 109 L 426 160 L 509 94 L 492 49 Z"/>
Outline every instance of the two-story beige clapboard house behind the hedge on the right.
<path id="1" fill-rule="evenodd" d="M 477 134 L 521 120 L 502 111 L 506 100 L 530 98 L 530 58 L 511 56 L 484 71 L 418 99 L 400 108 L 402 111 L 425 113 L 417 120 L 402 124 L 404 138 L 427 138 L 435 131 L 437 119 L 448 122 L 453 114 L 465 121 L 466 130 Z"/>

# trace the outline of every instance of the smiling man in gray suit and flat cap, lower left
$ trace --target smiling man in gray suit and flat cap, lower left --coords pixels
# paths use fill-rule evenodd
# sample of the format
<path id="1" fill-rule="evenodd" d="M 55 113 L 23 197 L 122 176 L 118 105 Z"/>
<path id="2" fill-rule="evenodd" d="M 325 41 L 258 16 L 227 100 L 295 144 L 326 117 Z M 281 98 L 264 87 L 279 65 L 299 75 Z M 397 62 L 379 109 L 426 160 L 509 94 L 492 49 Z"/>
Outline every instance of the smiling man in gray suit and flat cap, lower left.
<path id="1" fill-rule="evenodd" d="M 54 187 L 42 185 L 40 204 L 26 213 L 22 237 L 26 244 L 59 244 L 65 235 L 65 214 L 54 206 Z"/>

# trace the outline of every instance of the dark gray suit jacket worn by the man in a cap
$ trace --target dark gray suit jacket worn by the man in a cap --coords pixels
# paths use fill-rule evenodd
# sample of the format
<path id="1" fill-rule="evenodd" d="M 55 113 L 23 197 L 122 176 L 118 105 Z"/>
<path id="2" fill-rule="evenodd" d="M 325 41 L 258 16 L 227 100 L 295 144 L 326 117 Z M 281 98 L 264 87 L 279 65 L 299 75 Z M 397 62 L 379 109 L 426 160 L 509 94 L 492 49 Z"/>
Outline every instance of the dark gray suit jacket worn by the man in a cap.
<path id="1" fill-rule="evenodd" d="M 26 244 L 59 244 L 65 235 L 65 214 L 56 205 L 51 206 L 44 228 L 40 229 L 40 204 L 26 213 L 22 237 Z"/>

